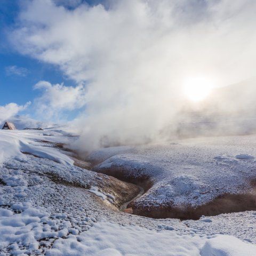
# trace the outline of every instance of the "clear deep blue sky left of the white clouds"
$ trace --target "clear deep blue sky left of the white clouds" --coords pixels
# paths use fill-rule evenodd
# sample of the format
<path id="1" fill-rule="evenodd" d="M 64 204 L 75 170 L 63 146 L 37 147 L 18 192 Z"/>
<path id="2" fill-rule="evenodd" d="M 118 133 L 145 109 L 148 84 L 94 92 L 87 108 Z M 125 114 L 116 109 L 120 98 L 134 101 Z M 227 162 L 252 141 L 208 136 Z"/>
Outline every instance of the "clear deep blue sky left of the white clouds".
<path id="1" fill-rule="evenodd" d="M 60 1 L 65 2 L 65 0 Z M 86 1 L 90 5 L 99 2 Z M 10 46 L 7 34 L 15 26 L 21 3 L 19 0 L 0 0 L 0 106 L 10 102 L 18 105 L 24 105 L 28 101 L 33 102 L 41 93 L 33 90 L 33 86 L 39 81 L 75 86 L 75 82 L 68 79 L 57 66 L 21 55 Z M 66 117 L 72 119 L 77 113 L 78 110 L 70 111 Z M 31 108 L 20 114 L 34 117 Z"/>

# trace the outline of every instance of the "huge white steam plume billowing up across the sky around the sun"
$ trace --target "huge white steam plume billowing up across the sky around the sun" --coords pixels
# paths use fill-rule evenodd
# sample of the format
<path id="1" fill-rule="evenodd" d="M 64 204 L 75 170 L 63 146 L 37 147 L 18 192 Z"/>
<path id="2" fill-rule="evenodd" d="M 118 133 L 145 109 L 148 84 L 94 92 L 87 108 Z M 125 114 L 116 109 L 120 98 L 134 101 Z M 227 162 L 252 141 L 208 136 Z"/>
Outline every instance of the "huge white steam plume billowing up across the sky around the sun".
<path id="1" fill-rule="evenodd" d="M 38 0 L 21 8 L 10 42 L 76 82 L 72 98 L 61 94 L 64 85 L 41 86 L 47 99 L 49 88 L 56 96 L 42 97 L 40 106 L 50 113 L 84 107 L 71 122 L 80 134 L 73 147 L 81 152 L 242 133 L 243 120 L 256 113 L 253 0 L 121 0 L 72 8 Z M 211 81 L 209 97 L 189 101 L 183 90 L 189 77 Z M 227 119 L 239 122 L 227 131 Z M 191 129 L 198 122 L 200 129 Z"/>

